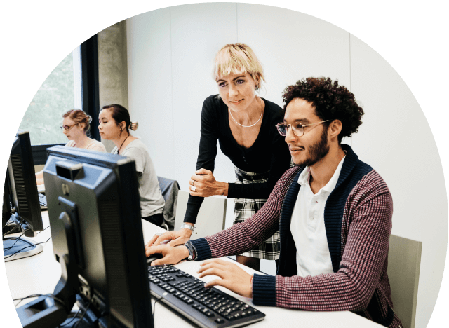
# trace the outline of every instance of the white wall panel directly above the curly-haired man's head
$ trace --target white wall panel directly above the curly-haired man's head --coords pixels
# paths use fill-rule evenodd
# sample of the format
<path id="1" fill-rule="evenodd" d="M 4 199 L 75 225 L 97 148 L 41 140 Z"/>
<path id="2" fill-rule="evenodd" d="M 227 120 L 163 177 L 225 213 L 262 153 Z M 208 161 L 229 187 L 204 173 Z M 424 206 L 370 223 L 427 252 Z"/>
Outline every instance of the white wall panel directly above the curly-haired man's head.
<path id="1" fill-rule="evenodd" d="M 326 20 L 273 6 L 238 4 L 239 42 L 262 62 L 266 96 L 283 107 L 281 93 L 301 78 L 326 76 L 350 84 L 349 33 Z"/>

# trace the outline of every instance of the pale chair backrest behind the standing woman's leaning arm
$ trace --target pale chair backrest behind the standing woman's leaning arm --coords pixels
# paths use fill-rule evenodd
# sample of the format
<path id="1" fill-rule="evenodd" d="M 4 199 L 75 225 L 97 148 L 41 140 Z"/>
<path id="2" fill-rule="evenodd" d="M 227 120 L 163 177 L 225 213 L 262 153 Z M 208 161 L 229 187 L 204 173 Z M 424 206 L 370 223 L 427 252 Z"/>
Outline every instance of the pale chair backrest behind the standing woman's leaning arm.
<path id="1" fill-rule="evenodd" d="M 179 230 L 184 221 L 189 193 L 180 190 L 177 194 L 175 230 Z M 204 198 L 196 217 L 197 234 L 192 233 L 191 240 L 203 238 L 225 229 L 227 198 L 210 196 Z"/>

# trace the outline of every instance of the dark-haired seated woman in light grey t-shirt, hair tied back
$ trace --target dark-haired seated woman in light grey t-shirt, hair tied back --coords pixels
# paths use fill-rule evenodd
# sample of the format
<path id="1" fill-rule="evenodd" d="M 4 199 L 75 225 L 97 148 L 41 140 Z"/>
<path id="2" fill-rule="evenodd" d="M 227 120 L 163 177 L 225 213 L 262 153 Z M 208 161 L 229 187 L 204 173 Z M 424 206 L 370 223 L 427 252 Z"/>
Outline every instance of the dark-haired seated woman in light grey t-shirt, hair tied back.
<path id="1" fill-rule="evenodd" d="M 147 146 L 129 132 L 129 130 L 137 130 L 138 123 L 131 123 L 128 109 L 119 104 L 103 106 L 98 118 L 100 136 L 111 140 L 116 145 L 111 153 L 126 156 L 135 161 L 142 219 L 161 226 L 165 200 L 163 200 L 152 159 L 149 157 Z"/>

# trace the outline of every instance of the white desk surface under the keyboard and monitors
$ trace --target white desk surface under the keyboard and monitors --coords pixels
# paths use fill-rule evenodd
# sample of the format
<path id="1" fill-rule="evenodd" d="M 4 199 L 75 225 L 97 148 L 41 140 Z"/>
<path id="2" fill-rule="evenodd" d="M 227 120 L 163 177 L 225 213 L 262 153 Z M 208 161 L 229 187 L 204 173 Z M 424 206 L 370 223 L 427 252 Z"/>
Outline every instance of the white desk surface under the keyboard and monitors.
<path id="1" fill-rule="evenodd" d="M 43 226 L 49 226 L 48 212 L 42 212 Z M 142 220 L 142 231 L 145 242 L 154 235 L 164 231 L 163 228 L 154 226 L 147 221 Z M 50 228 L 42 231 L 35 238 L 32 238 L 33 242 L 45 242 L 50 238 Z M 9 261 L 5 264 L 6 276 L 8 278 L 8 285 L 11 292 L 12 299 L 19 299 L 21 297 L 29 296 L 30 294 L 48 294 L 52 293 L 55 289 L 58 280 L 61 275 L 60 264 L 54 259 L 53 256 L 53 244 L 49 240 L 46 245 L 43 245 L 43 252 L 36 254 L 33 257 L 25 259 L 18 259 L 15 261 Z M 223 258 L 227 261 L 233 261 L 227 257 Z M 234 263 L 236 263 L 234 261 Z M 241 264 L 236 263 L 241 266 Z M 199 262 L 196 261 L 182 261 L 176 264 L 177 268 L 194 275 L 198 278 L 196 271 L 199 269 Z M 241 266 L 249 273 L 254 273 L 252 269 Z M 215 279 L 215 276 L 209 276 L 201 278 L 201 280 L 207 282 Z M 228 294 L 250 303 L 252 306 L 252 300 L 243 296 L 239 296 L 230 292 L 223 287 L 217 287 L 226 291 Z M 152 309 L 154 309 L 154 301 L 156 299 L 152 296 Z M 32 299 L 24 300 L 19 306 L 32 301 Z M 17 304 L 18 301 L 15 301 Z M 162 302 L 156 303 L 154 311 L 154 327 L 196 327 L 194 324 L 185 320 L 182 315 L 176 313 L 174 310 L 166 306 Z M 303 310 L 288 310 L 285 308 L 275 308 L 269 306 L 254 306 L 258 310 L 267 315 L 264 320 L 251 324 L 249 327 L 262 328 L 262 327 L 281 327 L 283 324 L 289 326 L 292 322 L 297 322 L 300 327 L 315 327 L 315 328 L 328 328 L 328 327 L 344 327 L 344 328 L 360 328 L 360 327 L 382 327 L 375 322 L 367 320 L 363 317 L 355 315 L 351 312 L 311 312 Z"/>

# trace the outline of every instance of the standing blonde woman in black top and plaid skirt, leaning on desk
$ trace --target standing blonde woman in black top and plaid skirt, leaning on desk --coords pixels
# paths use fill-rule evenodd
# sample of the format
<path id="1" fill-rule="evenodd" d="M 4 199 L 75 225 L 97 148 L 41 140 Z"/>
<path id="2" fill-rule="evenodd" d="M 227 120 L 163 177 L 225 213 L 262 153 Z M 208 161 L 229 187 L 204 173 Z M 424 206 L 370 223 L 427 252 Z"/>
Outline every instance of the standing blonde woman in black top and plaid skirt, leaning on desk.
<path id="1" fill-rule="evenodd" d="M 235 198 L 234 224 L 245 221 L 262 208 L 278 179 L 290 168 L 288 146 L 275 127 L 283 120 L 283 111 L 256 94 L 264 74 L 253 50 L 241 43 L 224 46 L 215 57 L 213 77 L 218 95 L 203 102 L 199 155 L 189 180 L 185 224 L 180 231 L 155 235 L 147 246 L 167 239 L 172 239 L 168 242 L 172 246 L 187 242 L 204 197 Z M 235 183 L 218 182 L 213 176 L 217 141 L 234 164 Z M 260 259 L 277 264 L 279 231 L 267 237 L 258 249 L 237 255 L 236 261 L 257 271 Z"/>

